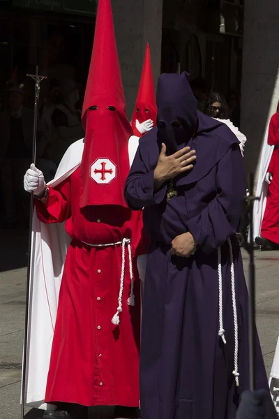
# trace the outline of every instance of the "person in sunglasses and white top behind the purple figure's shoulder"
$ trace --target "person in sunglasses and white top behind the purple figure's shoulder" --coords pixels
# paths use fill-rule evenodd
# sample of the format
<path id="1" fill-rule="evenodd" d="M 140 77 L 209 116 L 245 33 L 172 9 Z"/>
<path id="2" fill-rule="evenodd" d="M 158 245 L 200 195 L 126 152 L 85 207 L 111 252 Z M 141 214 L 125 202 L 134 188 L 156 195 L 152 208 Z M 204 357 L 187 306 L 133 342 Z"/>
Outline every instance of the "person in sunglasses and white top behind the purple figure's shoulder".
<path id="1" fill-rule="evenodd" d="M 234 126 L 232 121 L 229 120 L 229 108 L 227 105 L 227 102 L 225 101 L 225 98 L 218 92 L 213 91 L 209 95 L 209 98 L 206 101 L 206 109 L 205 109 L 205 115 L 216 119 L 217 121 L 223 122 L 223 124 L 226 124 L 231 131 L 236 135 L 236 138 L 240 142 L 240 149 L 241 154 L 243 155 L 244 152 L 244 146 L 246 143 L 246 136 L 239 131 L 239 128 Z"/>

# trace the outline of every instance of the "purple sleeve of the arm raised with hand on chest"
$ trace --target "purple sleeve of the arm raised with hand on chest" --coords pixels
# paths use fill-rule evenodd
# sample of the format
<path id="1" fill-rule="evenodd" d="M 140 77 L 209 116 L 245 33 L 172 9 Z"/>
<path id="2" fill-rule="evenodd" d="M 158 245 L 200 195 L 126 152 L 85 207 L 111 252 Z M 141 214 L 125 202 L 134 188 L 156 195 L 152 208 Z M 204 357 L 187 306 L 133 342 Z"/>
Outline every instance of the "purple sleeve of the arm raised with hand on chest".
<path id="1" fill-rule="evenodd" d="M 143 207 L 160 204 L 165 199 L 167 185 L 155 192 L 153 177 L 154 169 L 146 168 L 139 147 L 125 185 L 125 199 L 131 210 L 142 210 Z"/>

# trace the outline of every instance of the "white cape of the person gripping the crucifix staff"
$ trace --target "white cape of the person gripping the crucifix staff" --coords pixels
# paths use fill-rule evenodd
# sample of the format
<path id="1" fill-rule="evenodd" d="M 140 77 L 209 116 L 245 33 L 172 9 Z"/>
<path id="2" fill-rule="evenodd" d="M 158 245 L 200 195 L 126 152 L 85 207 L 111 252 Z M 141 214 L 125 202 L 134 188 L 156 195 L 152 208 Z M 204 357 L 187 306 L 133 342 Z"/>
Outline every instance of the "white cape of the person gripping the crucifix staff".
<path id="1" fill-rule="evenodd" d="M 130 163 L 137 151 L 138 138 L 129 140 Z M 84 139 L 70 145 L 49 186 L 57 186 L 80 166 Z M 25 404 L 38 409 L 55 409 L 45 404 L 45 388 L 56 321 L 59 289 L 70 237 L 64 224 L 45 224 L 33 214 L 29 324 L 27 330 L 27 372 Z M 144 279 L 146 256 L 137 260 L 140 278 Z"/>

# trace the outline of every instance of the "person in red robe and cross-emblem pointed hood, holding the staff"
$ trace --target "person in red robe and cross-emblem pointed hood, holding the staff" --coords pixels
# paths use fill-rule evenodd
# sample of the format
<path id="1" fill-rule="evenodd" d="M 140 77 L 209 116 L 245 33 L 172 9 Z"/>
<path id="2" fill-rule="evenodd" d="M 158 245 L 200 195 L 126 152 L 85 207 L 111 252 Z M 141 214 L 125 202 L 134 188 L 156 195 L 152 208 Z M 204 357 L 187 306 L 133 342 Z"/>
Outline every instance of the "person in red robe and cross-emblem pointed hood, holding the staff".
<path id="1" fill-rule="evenodd" d="M 71 411 L 71 418 L 79 419 L 86 418 L 86 406 L 137 408 L 140 400 L 137 266 L 145 249 L 142 213 L 131 211 L 123 195 L 133 131 L 125 114 L 110 0 L 98 2 L 82 122 L 85 139 L 70 146 L 54 182 L 45 186 L 34 166 L 24 177 L 24 188 L 37 198 L 40 222 L 65 222 L 71 239 L 45 402 L 63 402 L 65 411 L 80 405 L 82 410 Z"/>

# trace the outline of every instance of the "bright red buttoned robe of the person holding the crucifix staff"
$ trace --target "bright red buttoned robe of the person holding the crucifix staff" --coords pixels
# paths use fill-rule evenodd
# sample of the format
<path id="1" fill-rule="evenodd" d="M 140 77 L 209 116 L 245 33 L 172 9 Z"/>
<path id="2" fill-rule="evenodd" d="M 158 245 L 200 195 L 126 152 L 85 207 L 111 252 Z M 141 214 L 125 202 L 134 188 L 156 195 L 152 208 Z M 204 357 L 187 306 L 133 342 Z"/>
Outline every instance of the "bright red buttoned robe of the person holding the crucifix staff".
<path id="1" fill-rule="evenodd" d="M 56 189 L 47 207 L 36 203 L 44 223 L 66 221 L 73 238 L 61 281 L 45 402 L 84 406 L 139 406 L 140 279 L 136 258 L 143 252 L 142 214 L 128 208 L 94 206 L 80 210 L 80 168 Z M 135 307 L 127 304 L 126 271 L 120 324 L 118 307 L 122 247 L 91 247 L 131 238 Z M 142 249 L 140 247 L 142 246 Z"/>

